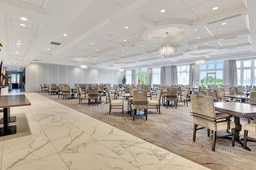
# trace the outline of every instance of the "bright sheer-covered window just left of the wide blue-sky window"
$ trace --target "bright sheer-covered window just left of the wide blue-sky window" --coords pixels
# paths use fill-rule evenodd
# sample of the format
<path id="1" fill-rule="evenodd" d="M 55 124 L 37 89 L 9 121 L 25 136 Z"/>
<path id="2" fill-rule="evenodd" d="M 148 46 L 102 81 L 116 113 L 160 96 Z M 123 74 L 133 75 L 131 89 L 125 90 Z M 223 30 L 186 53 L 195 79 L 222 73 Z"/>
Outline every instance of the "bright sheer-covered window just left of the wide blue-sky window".
<path id="1" fill-rule="evenodd" d="M 189 84 L 189 65 L 177 65 L 178 72 L 178 84 L 188 85 Z"/>

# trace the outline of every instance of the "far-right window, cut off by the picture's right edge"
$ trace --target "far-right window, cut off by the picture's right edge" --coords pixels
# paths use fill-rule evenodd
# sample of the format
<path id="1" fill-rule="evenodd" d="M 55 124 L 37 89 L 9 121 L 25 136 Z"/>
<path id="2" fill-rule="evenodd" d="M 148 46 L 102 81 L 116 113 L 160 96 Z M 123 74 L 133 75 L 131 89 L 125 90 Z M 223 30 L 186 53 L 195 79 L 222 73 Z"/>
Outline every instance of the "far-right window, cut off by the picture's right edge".
<path id="1" fill-rule="evenodd" d="M 237 85 L 256 85 L 256 58 L 237 59 Z"/>

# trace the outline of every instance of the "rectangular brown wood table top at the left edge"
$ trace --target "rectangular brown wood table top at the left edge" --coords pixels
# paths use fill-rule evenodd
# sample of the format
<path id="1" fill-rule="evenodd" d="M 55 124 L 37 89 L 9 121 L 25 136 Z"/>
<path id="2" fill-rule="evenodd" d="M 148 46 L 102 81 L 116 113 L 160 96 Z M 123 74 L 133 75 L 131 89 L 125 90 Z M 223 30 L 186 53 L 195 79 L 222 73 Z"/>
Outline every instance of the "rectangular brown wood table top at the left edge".
<path id="1" fill-rule="evenodd" d="M 25 95 L 6 95 L 0 96 L 0 108 L 28 106 L 30 101 Z"/>

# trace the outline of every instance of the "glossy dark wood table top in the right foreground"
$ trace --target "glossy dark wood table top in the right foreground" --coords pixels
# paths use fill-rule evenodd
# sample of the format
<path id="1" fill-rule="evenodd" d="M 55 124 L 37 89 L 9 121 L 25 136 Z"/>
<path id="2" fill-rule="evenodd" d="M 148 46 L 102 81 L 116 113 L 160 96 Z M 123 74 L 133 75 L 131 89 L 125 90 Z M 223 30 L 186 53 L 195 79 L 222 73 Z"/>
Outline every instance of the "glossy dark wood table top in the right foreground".
<path id="1" fill-rule="evenodd" d="M 256 116 L 256 105 L 240 102 L 215 102 L 214 107 L 216 111 L 236 117 L 246 118 Z"/>

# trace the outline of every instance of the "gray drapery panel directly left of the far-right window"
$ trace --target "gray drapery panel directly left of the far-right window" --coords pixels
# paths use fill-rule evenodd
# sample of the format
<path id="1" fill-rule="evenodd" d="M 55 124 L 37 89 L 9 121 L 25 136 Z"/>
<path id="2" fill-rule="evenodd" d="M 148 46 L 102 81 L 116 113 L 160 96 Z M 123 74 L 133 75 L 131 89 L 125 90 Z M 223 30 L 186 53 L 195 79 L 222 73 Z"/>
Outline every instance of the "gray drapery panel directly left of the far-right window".
<path id="1" fill-rule="evenodd" d="M 237 86 L 236 60 L 230 60 L 228 62 L 228 85 Z"/>

